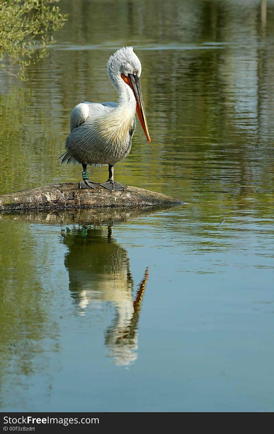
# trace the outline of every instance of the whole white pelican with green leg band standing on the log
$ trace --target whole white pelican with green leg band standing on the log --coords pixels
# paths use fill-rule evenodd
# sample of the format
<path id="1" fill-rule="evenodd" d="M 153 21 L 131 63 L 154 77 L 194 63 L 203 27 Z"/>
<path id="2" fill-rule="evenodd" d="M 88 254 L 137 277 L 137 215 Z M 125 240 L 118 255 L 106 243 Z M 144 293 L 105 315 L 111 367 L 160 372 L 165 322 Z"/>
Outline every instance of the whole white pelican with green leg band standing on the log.
<path id="1" fill-rule="evenodd" d="M 118 102 L 80 102 L 72 110 L 70 131 L 61 155 L 62 163 L 82 164 L 79 188 L 96 188 L 101 185 L 108 190 L 124 187 L 114 182 L 114 164 L 127 157 L 131 138 L 135 131 L 135 111 L 143 127 L 147 141 L 150 135 L 140 86 L 141 63 L 133 47 L 117 50 L 108 60 L 108 76 L 119 94 Z M 108 181 L 97 184 L 89 181 L 87 164 L 108 165 Z"/>

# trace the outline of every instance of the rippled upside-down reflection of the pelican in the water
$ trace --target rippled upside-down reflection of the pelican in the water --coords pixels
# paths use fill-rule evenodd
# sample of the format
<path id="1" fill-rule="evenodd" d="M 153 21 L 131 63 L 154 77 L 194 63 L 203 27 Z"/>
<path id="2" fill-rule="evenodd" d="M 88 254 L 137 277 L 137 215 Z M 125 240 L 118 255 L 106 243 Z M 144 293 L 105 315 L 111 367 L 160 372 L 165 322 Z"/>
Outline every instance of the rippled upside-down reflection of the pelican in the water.
<path id="1" fill-rule="evenodd" d="M 114 303 L 115 318 L 105 333 L 105 345 L 117 365 L 129 365 L 137 358 L 137 325 L 148 270 L 134 300 L 127 250 L 115 243 L 111 226 L 74 227 L 62 231 L 62 237 L 69 248 L 69 289 L 80 314 L 85 315 L 88 304 Z"/>

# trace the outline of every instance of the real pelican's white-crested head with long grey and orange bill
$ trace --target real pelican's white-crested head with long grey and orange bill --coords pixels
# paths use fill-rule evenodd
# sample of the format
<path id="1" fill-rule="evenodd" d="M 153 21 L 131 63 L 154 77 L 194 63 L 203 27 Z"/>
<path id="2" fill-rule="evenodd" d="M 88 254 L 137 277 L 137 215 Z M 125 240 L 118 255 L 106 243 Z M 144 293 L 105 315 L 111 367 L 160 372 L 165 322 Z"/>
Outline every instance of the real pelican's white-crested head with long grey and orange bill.
<path id="1" fill-rule="evenodd" d="M 140 85 L 141 71 L 141 62 L 134 53 L 133 47 L 120 48 L 108 59 L 108 76 L 113 85 L 117 87 L 117 83 L 122 79 L 132 89 L 136 99 L 138 118 L 147 141 L 150 143 L 151 138 L 147 128 L 147 118 Z"/>

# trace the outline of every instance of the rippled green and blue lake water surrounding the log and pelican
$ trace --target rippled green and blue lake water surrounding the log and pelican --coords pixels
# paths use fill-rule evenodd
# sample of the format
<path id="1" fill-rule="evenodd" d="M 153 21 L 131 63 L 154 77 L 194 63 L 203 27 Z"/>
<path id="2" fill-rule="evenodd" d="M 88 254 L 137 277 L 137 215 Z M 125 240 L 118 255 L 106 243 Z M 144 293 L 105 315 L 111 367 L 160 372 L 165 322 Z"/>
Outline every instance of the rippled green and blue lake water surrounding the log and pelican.
<path id="1" fill-rule="evenodd" d="M 0 216 L 2 411 L 273 411 L 274 1 L 59 6 L 29 80 L 0 74 L 0 194 L 81 179 L 70 112 L 117 100 L 133 45 L 152 141 L 115 178 L 187 204 Z"/>

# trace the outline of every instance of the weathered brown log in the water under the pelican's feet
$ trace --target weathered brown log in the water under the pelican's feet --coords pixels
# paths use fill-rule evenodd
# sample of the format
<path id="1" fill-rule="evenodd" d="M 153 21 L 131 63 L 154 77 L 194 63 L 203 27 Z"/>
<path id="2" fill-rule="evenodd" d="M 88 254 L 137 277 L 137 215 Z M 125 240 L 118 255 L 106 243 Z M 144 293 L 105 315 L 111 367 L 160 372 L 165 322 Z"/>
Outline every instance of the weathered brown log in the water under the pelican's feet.
<path id="1" fill-rule="evenodd" d="M 183 202 L 154 191 L 126 187 L 109 191 L 103 187 L 79 190 L 78 184 L 52 184 L 0 196 L 0 211 L 59 210 L 64 208 L 146 208 L 181 205 Z"/>

